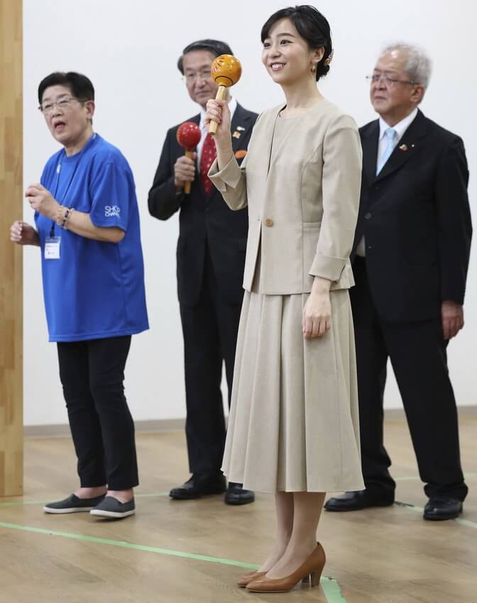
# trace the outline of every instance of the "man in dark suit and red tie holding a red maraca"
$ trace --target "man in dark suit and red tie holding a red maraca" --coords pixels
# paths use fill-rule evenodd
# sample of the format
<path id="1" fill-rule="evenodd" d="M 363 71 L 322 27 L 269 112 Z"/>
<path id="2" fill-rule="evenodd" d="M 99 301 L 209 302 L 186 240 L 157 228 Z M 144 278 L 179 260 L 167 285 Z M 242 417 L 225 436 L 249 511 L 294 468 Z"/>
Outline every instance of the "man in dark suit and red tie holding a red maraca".
<path id="1" fill-rule="evenodd" d="M 200 127 L 202 138 L 192 159 L 177 143 L 177 127 L 168 131 L 153 187 L 148 197 L 151 216 L 167 220 L 180 210 L 177 242 L 177 292 L 185 351 L 187 452 L 192 477 L 172 488 L 173 499 L 195 499 L 225 492 L 227 504 L 253 502 L 254 494 L 221 473 L 225 421 L 221 395 L 225 363 L 229 404 L 234 374 L 238 320 L 243 298 L 242 280 L 248 231 L 246 210 L 230 211 L 207 177 L 215 158 L 212 137 L 203 126 L 205 106 L 215 98 L 211 77 L 215 57 L 232 54 L 218 40 L 188 45 L 177 67 L 184 76 L 190 98 L 200 113 L 187 121 Z M 231 131 L 238 160 L 246 155 L 257 114 L 246 111 L 228 97 Z M 184 193 L 186 182 L 190 194 Z"/>

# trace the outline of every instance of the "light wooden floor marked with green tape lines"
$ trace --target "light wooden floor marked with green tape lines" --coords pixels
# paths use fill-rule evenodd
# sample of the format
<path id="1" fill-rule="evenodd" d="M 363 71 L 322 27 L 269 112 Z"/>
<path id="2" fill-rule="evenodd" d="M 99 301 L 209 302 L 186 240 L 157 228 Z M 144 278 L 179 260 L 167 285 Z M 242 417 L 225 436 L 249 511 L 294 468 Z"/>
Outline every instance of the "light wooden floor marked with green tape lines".
<path id="1" fill-rule="evenodd" d="M 41 502 L 75 489 L 75 458 L 66 438 L 28 440 L 25 495 L 0 499 L 0 603 L 476 603 L 476 429 L 477 419 L 461 420 L 471 491 L 460 521 L 422 519 L 426 498 L 407 427 L 388 421 L 397 499 L 415 507 L 324 512 L 324 574 L 335 580 L 264 595 L 234 580 L 268 552 L 273 498 L 258 494 L 236 508 L 221 497 L 171 501 L 164 493 L 187 477 L 182 433 L 138 436 L 137 515 L 123 521 L 43 514 Z"/>

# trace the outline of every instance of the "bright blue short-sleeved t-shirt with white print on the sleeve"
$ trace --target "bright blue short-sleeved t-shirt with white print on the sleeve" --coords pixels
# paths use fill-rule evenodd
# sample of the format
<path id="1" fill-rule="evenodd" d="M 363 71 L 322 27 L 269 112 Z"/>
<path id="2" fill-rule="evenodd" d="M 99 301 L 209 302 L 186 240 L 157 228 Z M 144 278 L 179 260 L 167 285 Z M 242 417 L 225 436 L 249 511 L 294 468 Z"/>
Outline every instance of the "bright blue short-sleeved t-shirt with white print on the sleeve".
<path id="1" fill-rule="evenodd" d="M 35 213 L 50 341 L 132 335 L 148 326 L 143 252 L 133 174 L 125 157 L 93 134 L 67 157 L 45 165 L 41 184 L 62 205 L 89 214 L 94 226 L 117 226 L 120 243 L 104 243 L 57 226 Z M 45 260 L 45 239 L 60 237 L 60 259 Z"/>

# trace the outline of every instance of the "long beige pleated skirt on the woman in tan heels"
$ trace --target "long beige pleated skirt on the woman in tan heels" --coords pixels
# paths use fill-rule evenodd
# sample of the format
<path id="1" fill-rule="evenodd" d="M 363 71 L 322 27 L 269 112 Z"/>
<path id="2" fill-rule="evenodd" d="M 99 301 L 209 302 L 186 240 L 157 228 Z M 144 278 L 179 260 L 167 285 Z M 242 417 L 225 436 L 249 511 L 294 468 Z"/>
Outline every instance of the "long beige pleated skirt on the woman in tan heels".
<path id="1" fill-rule="evenodd" d="M 308 294 L 245 292 L 222 470 L 261 492 L 364 488 L 356 353 L 347 289 L 331 291 L 331 331 L 305 339 Z"/>

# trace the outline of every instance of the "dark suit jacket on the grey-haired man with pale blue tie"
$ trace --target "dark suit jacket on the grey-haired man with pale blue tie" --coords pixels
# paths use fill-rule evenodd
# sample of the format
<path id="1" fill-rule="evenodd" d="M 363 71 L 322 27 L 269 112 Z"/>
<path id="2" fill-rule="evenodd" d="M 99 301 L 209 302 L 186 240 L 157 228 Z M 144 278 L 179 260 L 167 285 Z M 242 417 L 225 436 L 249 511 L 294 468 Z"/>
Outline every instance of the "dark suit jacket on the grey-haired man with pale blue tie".
<path id="1" fill-rule="evenodd" d="M 353 253 L 365 236 L 366 268 L 380 316 L 417 321 L 464 303 L 471 247 L 464 143 L 418 111 L 379 175 L 379 121 L 360 129 L 361 204 Z"/>

